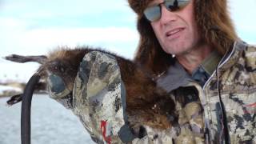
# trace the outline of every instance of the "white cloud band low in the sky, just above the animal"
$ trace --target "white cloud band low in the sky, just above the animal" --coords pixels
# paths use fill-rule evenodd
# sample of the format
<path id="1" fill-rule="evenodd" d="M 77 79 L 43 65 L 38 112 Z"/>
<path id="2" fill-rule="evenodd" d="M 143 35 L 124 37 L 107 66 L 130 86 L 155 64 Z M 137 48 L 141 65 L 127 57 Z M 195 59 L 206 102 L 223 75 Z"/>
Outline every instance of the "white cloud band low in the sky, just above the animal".
<path id="1" fill-rule="evenodd" d="M 45 54 L 56 46 L 102 46 L 120 53 L 123 49 L 133 54 L 138 33 L 128 27 L 35 28 L 18 19 L 6 18 L 0 24 L 2 54 Z M 122 48 L 119 48 L 122 47 Z M 131 55 L 122 54 L 126 58 Z"/>

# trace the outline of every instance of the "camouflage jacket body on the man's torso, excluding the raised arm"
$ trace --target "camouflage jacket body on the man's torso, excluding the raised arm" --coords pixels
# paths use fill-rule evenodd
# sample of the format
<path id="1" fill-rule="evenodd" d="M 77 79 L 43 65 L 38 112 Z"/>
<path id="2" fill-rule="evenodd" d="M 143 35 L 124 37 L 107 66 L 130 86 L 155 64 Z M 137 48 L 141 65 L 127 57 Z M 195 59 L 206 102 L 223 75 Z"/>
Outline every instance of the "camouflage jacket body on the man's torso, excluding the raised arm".
<path id="1" fill-rule="evenodd" d="M 176 102 L 175 143 L 256 143 L 256 47 L 235 42 L 216 65 L 203 86 L 179 66 L 158 79 Z"/>

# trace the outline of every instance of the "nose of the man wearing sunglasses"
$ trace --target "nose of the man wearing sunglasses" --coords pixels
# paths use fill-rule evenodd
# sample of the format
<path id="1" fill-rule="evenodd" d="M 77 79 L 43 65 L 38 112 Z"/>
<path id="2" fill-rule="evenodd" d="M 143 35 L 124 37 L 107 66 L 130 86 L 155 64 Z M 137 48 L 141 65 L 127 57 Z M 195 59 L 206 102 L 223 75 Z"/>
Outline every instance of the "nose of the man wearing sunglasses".
<path id="1" fill-rule="evenodd" d="M 169 22 L 174 22 L 177 20 L 177 15 L 174 12 L 171 12 L 170 10 L 166 9 L 166 6 L 164 6 L 163 4 L 161 5 L 161 18 L 160 18 L 160 22 L 163 25 L 168 24 Z"/>

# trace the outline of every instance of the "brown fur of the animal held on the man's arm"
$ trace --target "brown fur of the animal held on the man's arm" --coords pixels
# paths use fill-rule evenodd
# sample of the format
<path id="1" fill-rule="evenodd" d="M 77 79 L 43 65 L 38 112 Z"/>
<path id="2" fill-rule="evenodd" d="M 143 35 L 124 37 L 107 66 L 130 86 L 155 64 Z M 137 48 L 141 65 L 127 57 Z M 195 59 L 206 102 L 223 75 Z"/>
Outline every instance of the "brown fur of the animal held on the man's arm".
<path id="1" fill-rule="evenodd" d="M 49 54 L 45 63 L 39 68 L 43 79 L 47 78 L 47 71 L 61 76 L 72 91 L 74 78 L 85 54 L 92 49 L 78 48 L 75 50 L 60 49 Z M 103 50 L 106 54 L 111 54 Z M 141 125 L 152 128 L 167 129 L 171 126 L 168 116 L 174 116 L 174 102 L 165 91 L 158 88 L 156 83 L 134 62 L 113 55 L 120 67 L 122 81 L 126 87 L 126 112 L 130 126 Z"/>

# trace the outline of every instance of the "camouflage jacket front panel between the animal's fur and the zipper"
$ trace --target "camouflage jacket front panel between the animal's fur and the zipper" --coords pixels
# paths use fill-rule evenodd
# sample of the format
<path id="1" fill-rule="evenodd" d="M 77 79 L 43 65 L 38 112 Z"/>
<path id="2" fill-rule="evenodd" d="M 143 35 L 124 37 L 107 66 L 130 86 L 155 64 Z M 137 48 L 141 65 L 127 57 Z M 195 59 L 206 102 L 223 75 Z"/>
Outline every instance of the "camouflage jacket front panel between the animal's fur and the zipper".
<path id="1" fill-rule="evenodd" d="M 203 110 L 195 86 L 200 88 L 197 83 L 191 82 L 172 93 L 178 111 L 179 132 L 174 137 L 176 144 L 205 143 Z"/>

